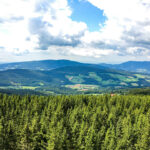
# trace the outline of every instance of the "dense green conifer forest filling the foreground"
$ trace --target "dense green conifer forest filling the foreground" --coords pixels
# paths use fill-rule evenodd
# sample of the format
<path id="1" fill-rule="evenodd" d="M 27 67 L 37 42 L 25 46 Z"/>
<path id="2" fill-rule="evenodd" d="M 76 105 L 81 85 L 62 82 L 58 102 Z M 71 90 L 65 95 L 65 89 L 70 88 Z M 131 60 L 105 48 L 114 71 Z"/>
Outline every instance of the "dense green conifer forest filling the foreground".
<path id="1" fill-rule="evenodd" d="M 149 150 L 150 96 L 0 94 L 1 150 Z"/>

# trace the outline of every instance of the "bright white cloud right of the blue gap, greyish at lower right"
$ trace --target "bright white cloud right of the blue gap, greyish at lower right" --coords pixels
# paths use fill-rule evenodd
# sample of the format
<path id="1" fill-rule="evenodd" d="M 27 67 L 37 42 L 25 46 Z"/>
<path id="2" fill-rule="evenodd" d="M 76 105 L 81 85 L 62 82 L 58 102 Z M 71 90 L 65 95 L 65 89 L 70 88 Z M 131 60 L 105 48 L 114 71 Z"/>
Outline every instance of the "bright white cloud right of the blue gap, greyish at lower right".
<path id="1" fill-rule="evenodd" d="M 97 32 L 97 43 L 105 43 L 120 53 L 146 55 L 150 52 L 150 1 L 149 0 L 88 0 L 104 11 L 105 25 Z M 85 37 L 92 37 L 93 33 Z M 88 41 L 95 42 L 93 38 Z M 138 48 L 137 48 L 138 47 Z M 139 50 L 140 47 L 140 50 Z M 138 50 L 137 50 L 138 49 Z M 138 53 L 137 53 L 138 51 Z M 143 52 L 146 51 L 146 52 Z"/>

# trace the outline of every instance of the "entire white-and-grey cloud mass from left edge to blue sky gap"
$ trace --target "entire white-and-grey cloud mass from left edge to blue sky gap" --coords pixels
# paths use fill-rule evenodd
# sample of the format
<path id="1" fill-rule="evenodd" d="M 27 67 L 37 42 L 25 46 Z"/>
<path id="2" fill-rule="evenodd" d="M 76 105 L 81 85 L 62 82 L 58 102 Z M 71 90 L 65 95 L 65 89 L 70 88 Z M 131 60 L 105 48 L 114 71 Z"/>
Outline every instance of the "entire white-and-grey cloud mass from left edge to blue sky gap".
<path id="1" fill-rule="evenodd" d="M 76 46 L 87 26 L 70 19 L 67 0 L 0 0 L 0 46 L 23 53 Z"/>

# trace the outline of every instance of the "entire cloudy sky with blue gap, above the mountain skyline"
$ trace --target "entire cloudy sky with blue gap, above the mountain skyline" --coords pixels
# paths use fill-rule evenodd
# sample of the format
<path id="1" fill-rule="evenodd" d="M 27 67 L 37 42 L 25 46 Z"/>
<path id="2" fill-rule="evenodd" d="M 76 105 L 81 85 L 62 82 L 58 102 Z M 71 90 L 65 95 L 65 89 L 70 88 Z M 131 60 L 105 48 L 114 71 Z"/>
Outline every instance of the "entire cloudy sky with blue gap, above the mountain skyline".
<path id="1" fill-rule="evenodd" d="M 150 0 L 0 0 L 0 63 L 150 61 Z"/>

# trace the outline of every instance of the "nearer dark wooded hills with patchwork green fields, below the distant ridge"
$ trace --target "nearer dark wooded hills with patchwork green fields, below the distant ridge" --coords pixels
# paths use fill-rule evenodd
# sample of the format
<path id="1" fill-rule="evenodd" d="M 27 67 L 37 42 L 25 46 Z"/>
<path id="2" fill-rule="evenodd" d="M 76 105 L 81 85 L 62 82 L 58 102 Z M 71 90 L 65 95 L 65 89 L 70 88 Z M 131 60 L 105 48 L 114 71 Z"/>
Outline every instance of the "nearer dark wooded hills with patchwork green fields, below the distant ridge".
<path id="1" fill-rule="evenodd" d="M 67 66 L 49 71 L 13 69 L 0 71 L 1 88 L 69 88 L 79 91 L 150 86 L 150 76 L 112 69 Z"/>

